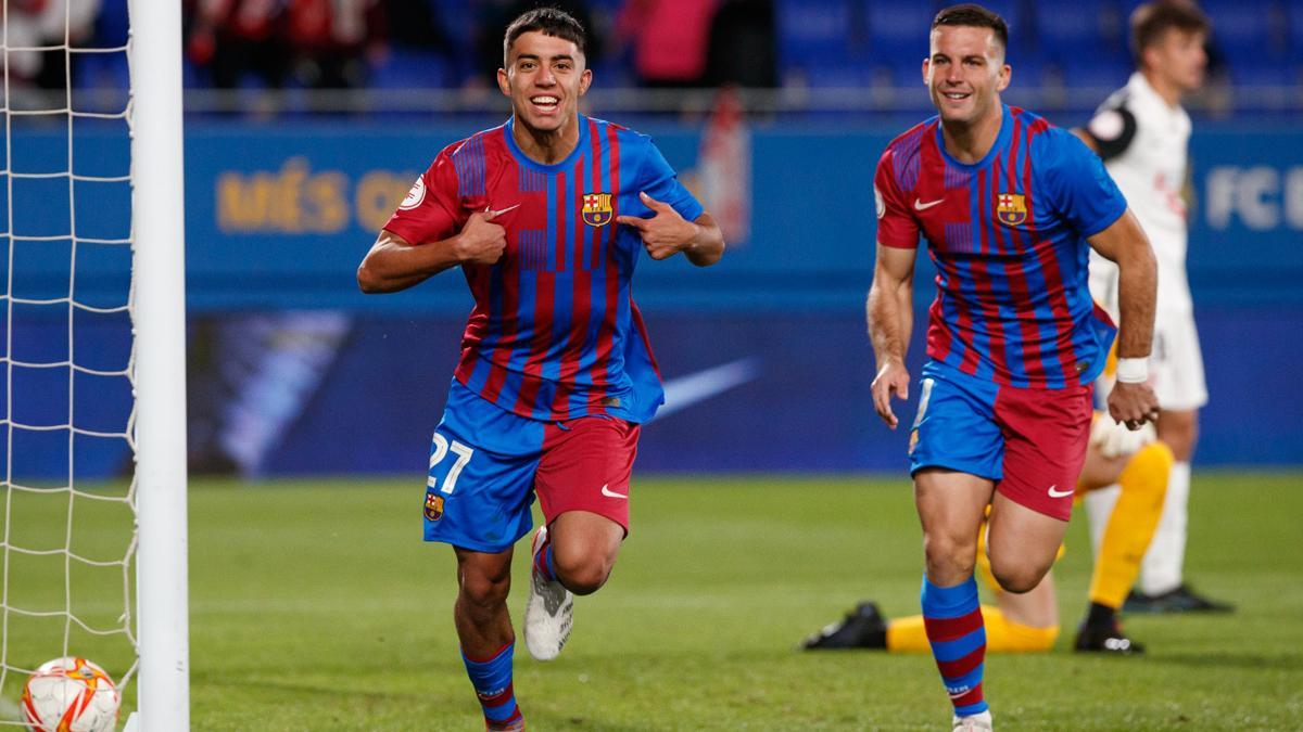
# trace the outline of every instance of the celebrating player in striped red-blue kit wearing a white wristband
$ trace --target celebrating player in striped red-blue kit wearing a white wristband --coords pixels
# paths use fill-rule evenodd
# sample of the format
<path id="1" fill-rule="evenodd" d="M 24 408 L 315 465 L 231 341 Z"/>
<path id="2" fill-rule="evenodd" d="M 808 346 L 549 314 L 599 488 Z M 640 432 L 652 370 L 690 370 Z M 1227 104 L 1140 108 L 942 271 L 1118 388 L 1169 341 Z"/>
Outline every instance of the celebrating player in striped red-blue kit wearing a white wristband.
<path id="1" fill-rule="evenodd" d="M 990 729 L 973 581 L 982 514 L 992 573 L 1011 593 L 1054 563 L 1091 432 L 1091 384 L 1114 327 L 1087 287 L 1088 250 L 1119 266 L 1117 422 L 1157 417 L 1145 384 L 1154 262 L 1104 164 L 1071 133 L 1006 107 L 1005 21 L 937 13 L 923 76 L 938 116 L 894 139 L 874 176 L 877 262 L 868 298 L 877 413 L 906 397 L 915 250 L 937 266 L 909 472 L 923 524 L 923 615 L 955 729 Z"/>

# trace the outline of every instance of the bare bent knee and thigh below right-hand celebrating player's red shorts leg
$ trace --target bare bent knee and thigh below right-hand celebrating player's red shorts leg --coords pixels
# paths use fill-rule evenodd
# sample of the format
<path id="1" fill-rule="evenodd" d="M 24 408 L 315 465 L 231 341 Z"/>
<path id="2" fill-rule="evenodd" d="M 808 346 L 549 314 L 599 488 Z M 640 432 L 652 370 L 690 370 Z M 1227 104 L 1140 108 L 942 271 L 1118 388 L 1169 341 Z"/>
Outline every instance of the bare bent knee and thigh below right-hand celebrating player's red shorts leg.
<path id="1" fill-rule="evenodd" d="M 1009 593 L 1027 593 L 1054 567 L 1067 521 L 1018 504 L 1001 492 L 990 503 L 990 570 Z"/>

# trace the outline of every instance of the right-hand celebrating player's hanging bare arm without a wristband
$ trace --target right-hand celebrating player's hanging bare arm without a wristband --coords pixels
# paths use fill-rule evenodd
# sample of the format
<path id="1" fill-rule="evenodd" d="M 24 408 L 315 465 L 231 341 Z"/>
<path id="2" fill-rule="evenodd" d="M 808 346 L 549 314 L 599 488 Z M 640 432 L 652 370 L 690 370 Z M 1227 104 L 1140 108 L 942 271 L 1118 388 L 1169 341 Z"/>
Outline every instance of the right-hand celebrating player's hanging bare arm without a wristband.
<path id="1" fill-rule="evenodd" d="M 869 288 L 865 305 L 869 341 L 878 366 L 873 379 L 873 408 L 893 430 L 899 421 L 891 412 L 891 397 L 909 397 L 909 371 L 904 367 L 904 354 L 913 326 L 913 249 L 878 244 L 873 287 Z"/>

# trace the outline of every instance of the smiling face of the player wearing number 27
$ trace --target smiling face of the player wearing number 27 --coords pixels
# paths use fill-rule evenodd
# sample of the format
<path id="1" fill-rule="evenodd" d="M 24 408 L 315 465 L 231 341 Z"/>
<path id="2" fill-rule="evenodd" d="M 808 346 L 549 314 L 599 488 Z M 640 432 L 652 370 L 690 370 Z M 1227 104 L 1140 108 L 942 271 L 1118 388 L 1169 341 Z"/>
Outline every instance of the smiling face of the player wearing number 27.
<path id="1" fill-rule="evenodd" d="M 538 31 L 521 34 L 511 44 L 507 68 L 498 70 L 498 87 L 511 98 L 516 120 L 536 133 L 560 132 L 573 122 L 579 98 L 592 81 L 573 42 Z"/>

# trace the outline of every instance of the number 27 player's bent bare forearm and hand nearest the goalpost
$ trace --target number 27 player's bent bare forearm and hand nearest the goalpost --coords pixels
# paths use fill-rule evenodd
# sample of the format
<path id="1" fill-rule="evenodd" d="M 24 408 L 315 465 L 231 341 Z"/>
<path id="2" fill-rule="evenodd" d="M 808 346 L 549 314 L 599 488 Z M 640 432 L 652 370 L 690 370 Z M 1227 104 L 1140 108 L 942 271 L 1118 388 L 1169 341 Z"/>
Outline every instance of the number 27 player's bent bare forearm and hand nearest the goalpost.
<path id="1" fill-rule="evenodd" d="M 507 246 L 507 231 L 493 223 L 498 214 L 472 214 L 456 234 L 421 246 L 380 229 L 357 268 L 357 287 L 367 294 L 399 292 L 457 264 L 494 264 Z"/>

